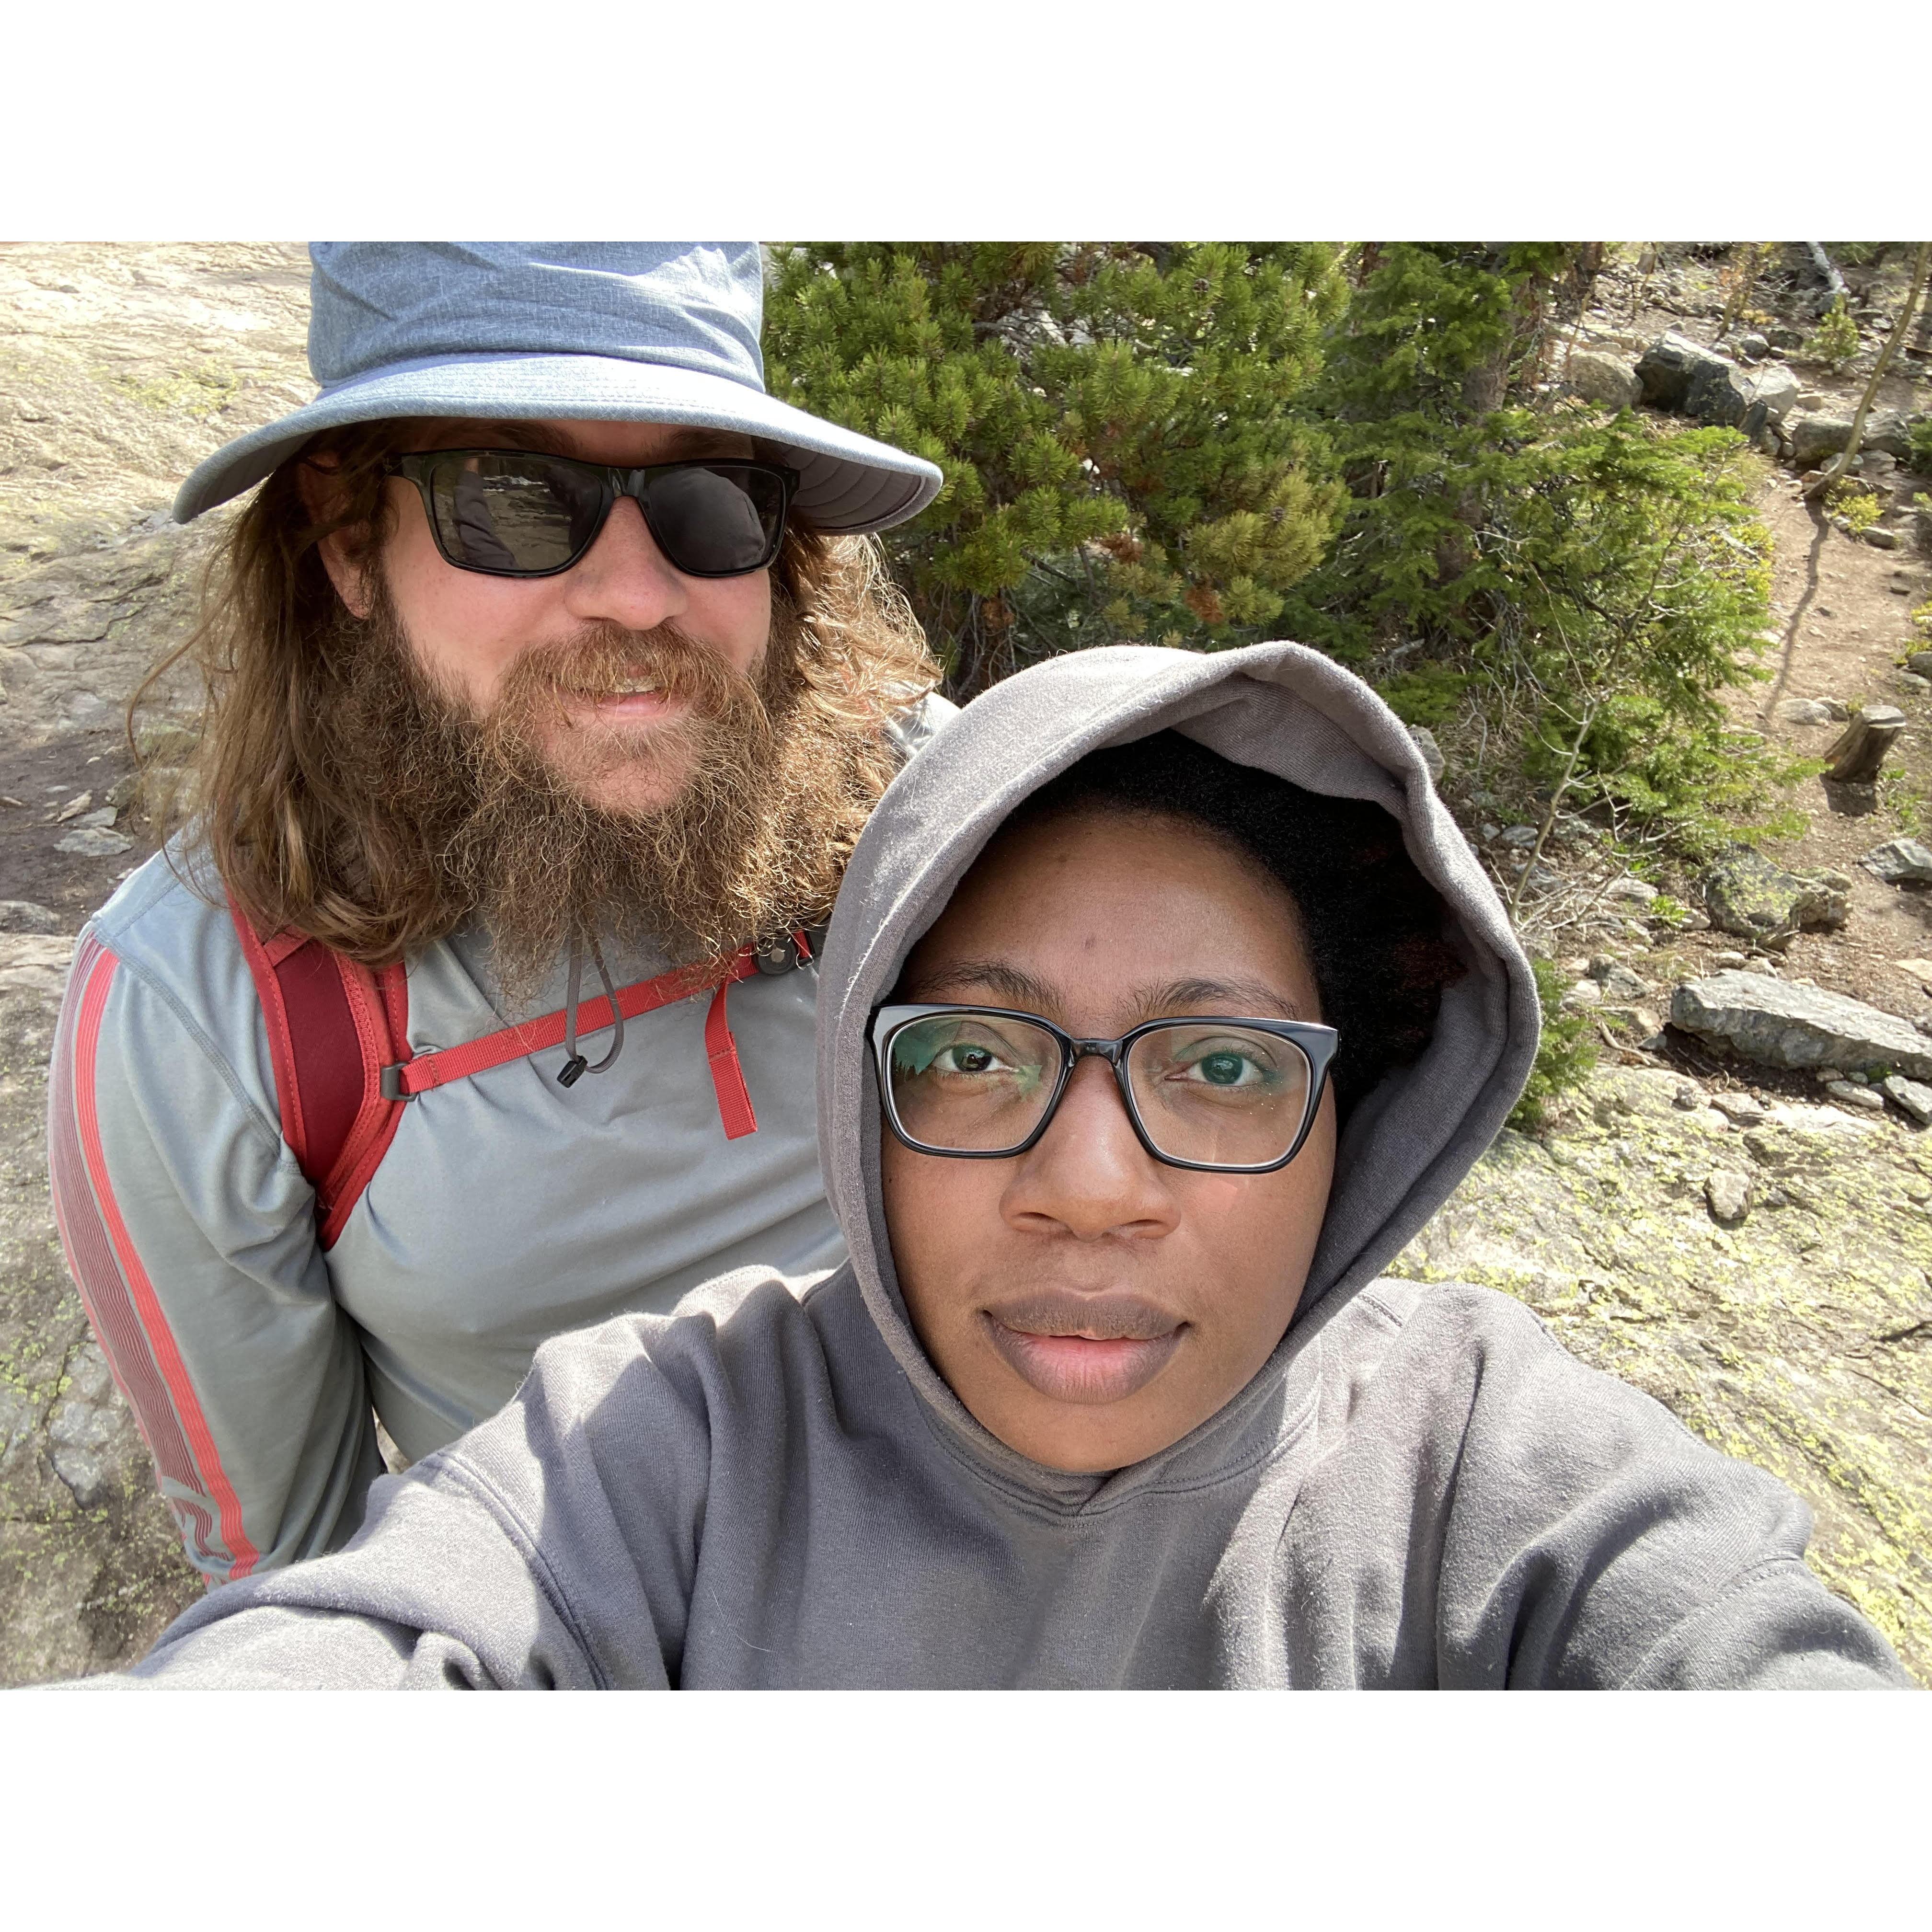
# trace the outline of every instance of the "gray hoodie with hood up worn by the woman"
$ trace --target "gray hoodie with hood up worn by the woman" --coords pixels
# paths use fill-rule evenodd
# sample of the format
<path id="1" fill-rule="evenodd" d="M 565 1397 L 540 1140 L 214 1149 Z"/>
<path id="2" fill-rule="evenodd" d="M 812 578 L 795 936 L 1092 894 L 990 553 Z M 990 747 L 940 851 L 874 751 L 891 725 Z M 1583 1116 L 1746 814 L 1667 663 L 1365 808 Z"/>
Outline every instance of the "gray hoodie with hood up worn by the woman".
<path id="1" fill-rule="evenodd" d="M 1468 972 L 1352 1113 L 1302 1304 L 1171 1449 L 1063 1474 L 958 1403 L 906 1320 L 864 1032 L 1012 808 L 1177 728 L 1395 813 Z M 497 1418 L 375 1486 L 340 1555 L 216 1590 L 166 1685 L 1903 1685 L 1803 1561 L 1804 1505 L 1486 1289 L 1379 1269 L 1536 1049 L 1501 906 L 1397 719 L 1298 645 L 1028 670 L 893 784 L 819 991 L 850 1260 L 545 1345 Z"/>

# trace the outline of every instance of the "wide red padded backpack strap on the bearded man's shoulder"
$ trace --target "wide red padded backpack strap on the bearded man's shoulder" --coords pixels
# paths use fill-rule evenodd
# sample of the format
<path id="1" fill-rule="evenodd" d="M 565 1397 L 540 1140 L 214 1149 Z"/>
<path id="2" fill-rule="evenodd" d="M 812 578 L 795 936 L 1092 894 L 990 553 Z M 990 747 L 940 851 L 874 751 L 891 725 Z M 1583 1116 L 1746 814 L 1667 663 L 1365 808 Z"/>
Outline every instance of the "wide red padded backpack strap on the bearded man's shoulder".
<path id="1" fill-rule="evenodd" d="M 371 972 L 301 933 L 263 939 L 228 910 L 269 1026 L 282 1138 L 315 1188 L 327 1250 L 402 1119 L 383 1068 L 410 1059 L 408 974 L 400 962 Z"/>

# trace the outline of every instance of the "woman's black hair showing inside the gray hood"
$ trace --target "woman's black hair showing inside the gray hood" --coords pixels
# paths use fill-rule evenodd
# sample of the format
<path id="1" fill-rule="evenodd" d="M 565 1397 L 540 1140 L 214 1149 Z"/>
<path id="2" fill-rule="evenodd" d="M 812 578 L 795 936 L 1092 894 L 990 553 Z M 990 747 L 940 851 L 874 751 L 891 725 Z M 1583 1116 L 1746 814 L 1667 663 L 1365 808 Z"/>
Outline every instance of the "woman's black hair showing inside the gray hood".
<path id="1" fill-rule="evenodd" d="M 1034 792 L 1007 829 L 1072 811 L 1200 825 L 1281 883 L 1300 914 L 1321 1020 L 1341 1036 L 1331 1072 L 1339 1119 L 1422 1055 L 1443 987 L 1466 968 L 1443 939 L 1441 898 L 1381 806 L 1302 790 L 1163 730 L 1092 752 Z"/>

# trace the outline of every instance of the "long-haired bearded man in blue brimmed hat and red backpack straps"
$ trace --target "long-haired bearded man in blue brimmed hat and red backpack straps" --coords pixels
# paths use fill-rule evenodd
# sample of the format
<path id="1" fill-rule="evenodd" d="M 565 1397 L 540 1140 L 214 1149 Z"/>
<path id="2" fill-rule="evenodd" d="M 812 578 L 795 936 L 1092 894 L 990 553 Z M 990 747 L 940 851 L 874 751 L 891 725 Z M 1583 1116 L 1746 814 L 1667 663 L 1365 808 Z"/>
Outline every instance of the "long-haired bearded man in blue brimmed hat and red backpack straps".
<path id="1" fill-rule="evenodd" d="M 211 1580 L 346 1542 L 377 1418 L 413 1461 L 562 1329 L 837 1265 L 811 935 L 951 709 L 864 543 L 939 471 L 765 394 L 755 245 L 311 255 L 321 396 L 176 500 L 261 483 L 52 1066 L 68 1264 Z"/>

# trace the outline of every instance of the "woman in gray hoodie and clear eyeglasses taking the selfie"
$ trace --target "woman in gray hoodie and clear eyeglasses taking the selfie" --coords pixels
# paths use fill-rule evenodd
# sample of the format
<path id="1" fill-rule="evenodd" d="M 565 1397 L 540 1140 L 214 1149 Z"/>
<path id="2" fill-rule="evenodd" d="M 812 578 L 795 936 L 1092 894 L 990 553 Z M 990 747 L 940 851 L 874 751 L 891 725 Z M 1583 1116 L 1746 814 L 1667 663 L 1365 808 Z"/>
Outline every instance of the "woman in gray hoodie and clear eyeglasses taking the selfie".
<path id="1" fill-rule="evenodd" d="M 549 1343 L 189 1685 L 1903 1685 L 1804 1505 L 1379 1269 L 1536 993 L 1406 732 L 1298 645 L 1103 649 L 887 792 L 823 964 L 850 1262 Z"/>

